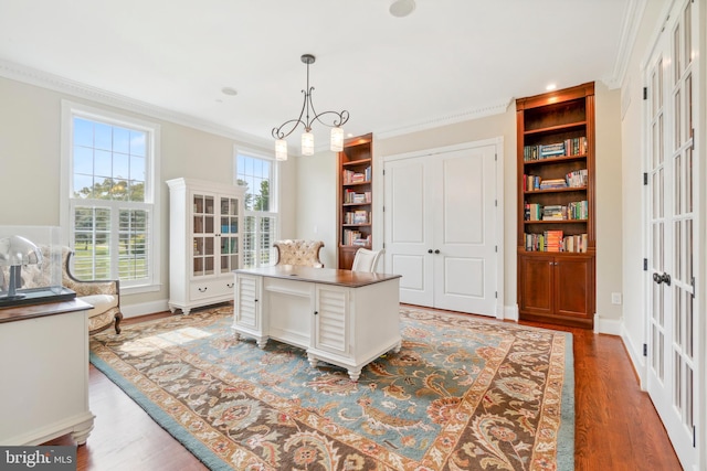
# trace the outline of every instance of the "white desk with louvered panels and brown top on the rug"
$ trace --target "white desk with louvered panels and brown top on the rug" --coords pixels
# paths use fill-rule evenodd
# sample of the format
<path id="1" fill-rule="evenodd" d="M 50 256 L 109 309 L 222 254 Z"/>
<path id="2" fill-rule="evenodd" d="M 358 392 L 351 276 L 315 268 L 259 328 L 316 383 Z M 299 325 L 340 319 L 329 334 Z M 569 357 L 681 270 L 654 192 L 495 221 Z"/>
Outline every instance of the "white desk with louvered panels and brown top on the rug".
<path id="1" fill-rule="evenodd" d="M 234 270 L 233 330 L 307 351 L 317 361 L 361 368 L 400 351 L 400 275 L 291 265 Z"/>

